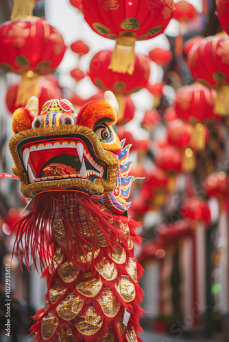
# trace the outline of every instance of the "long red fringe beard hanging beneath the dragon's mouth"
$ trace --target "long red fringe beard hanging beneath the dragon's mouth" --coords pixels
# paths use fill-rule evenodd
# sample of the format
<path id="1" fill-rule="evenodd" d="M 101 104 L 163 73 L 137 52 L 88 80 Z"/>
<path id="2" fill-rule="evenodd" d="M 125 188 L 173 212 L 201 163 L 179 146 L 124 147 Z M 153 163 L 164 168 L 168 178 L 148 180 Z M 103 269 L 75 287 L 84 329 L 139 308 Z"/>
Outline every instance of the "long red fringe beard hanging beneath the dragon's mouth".
<path id="1" fill-rule="evenodd" d="M 86 214 L 86 224 L 91 228 L 90 238 L 86 238 L 81 233 L 83 231 L 83 223 L 80 217 L 82 207 Z M 66 243 L 69 246 L 67 249 L 60 246 L 53 236 L 53 223 L 56 215 L 62 220 L 64 226 Z M 140 244 L 141 238 L 134 233 L 136 226 L 138 226 L 136 222 L 122 215 L 112 214 L 111 211 L 101 211 L 99 204 L 96 205 L 91 198 L 84 194 L 67 190 L 38 194 L 34 198 L 32 211 L 21 218 L 14 227 L 14 231 L 16 231 L 14 249 L 17 251 L 21 265 L 24 261 L 29 272 L 29 265 L 32 263 L 38 271 L 37 257 L 40 258 L 40 269 L 43 272 L 53 258 L 54 246 L 56 245 L 59 245 L 67 254 L 69 262 L 78 265 L 76 254 L 81 253 L 86 257 L 88 253 L 85 244 L 94 252 L 97 250 L 95 224 L 105 236 L 108 246 L 106 254 L 112 252 L 114 245 L 120 246 L 120 243 L 125 250 L 128 250 L 125 234 L 120 230 L 120 222 L 128 222 L 130 231 L 132 231 L 132 240 L 136 244 Z M 20 249 L 23 250 L 22 255 Z"/>

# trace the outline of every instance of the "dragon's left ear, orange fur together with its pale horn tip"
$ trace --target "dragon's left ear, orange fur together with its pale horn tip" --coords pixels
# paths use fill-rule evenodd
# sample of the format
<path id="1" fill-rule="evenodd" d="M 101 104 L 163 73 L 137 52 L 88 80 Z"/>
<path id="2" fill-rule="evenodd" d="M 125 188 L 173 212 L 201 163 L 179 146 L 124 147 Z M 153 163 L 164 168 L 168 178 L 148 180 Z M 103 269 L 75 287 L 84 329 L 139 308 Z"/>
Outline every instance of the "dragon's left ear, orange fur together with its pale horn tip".
<path id="1" fill-rule="evenodd" d="M 39 101 L 36 96 L 32 96 L 25 107 L 21 107 L 14 111 L 12 117 L 12 131 L 14 134 L 27 129 L 32 129 L 34 116 L 38 116 Z"/>

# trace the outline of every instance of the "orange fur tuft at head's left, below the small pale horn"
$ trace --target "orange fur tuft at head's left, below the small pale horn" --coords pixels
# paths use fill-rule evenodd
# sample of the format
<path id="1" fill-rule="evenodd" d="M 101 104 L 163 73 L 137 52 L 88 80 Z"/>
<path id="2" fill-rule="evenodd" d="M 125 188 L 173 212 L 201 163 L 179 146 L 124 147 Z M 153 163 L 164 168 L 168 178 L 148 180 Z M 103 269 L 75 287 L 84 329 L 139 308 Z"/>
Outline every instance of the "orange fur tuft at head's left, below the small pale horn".
<path id="1" fill-rule="evenodd" d="M 31 129 L 34 117 L 29 109 L 22 107 L 14 111 L 12 119 L 12 131 L 16 134 Z"/>

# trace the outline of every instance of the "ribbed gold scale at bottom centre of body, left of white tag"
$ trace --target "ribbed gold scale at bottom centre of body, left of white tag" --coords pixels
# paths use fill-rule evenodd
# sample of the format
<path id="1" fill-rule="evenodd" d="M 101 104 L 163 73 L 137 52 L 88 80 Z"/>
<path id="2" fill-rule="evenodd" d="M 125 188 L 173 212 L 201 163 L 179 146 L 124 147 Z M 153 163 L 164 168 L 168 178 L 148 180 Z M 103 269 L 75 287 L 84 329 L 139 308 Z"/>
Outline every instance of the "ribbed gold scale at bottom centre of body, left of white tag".
<path id="1" fill-rule="evenodd" d="M 99 331 L 103 324 L 103 319 L 97 315 L 93 306 L 86 308 L 86 315 L 78 315 L 75 319 L 75 326 L 78 331 L 86 336 L 91 336 Z"/>

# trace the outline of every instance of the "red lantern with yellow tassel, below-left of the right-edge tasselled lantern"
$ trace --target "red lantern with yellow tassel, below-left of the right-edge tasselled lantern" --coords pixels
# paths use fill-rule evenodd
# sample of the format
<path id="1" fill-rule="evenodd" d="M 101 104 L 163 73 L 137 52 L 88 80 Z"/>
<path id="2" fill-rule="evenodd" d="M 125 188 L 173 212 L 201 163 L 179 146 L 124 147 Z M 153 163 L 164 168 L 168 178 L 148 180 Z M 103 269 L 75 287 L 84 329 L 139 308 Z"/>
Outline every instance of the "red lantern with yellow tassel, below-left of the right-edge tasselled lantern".
<path id="1" fill-rule="evenodd" d="M 193 124 L 193 144 L 196 150 L 203 150 L 208 131 L 203 123 L 217 120 L 214 113 L 216 92 L 201 84 L 184 86 L 176 92 L 173 107 L 179 118 Z"/>

